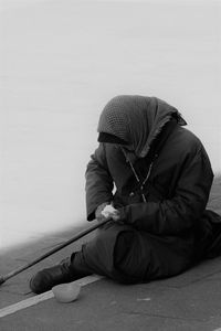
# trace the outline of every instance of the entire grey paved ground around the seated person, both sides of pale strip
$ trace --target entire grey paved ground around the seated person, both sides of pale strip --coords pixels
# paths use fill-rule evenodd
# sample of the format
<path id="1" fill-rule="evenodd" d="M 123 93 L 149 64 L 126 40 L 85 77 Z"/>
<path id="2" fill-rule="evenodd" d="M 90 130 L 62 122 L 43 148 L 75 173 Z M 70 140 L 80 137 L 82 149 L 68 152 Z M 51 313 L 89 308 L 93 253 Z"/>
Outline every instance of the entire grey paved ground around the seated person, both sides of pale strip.
<path id="1" fill-rule="evenodd" d="M 219 212 L 220 188 L 221 180 L 215 179 L 209 203 Z M 38 257 L 80 229 L 6 253 L 0 260 L 1 273 Z M 0 288 L 0 313 L 4 307 L 33 298 L 28 286 L 30 276 L 59 261 L 88 236 L 92 234 L 6 281 Z M 50 298 L 0 318 L 0 330 L 221 330 L 220 287 L 221 258 L 207 260 L 178 277 L 145 285 L 123 286 L 101 279 L 84 286 L 75 302 L 59 303 Z"/>

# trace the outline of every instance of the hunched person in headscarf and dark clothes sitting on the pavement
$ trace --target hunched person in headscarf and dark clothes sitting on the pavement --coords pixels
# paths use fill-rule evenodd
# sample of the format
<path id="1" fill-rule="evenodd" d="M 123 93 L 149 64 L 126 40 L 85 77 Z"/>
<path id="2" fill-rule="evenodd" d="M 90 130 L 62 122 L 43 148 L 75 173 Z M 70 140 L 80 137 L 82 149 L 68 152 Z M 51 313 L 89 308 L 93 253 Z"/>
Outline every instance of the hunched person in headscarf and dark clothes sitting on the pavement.
<path id="1" fill-rule="evenodd" d="M 117 96 L 98 121 L 86 170 L 87 220 L 96 236 L 30 280 L 41 293 L 98 274 L 124 284 L 182 273 L 221 250 L 221 217 L 206 210 L 213 180 L 201 141 L 156 97 Z"/>

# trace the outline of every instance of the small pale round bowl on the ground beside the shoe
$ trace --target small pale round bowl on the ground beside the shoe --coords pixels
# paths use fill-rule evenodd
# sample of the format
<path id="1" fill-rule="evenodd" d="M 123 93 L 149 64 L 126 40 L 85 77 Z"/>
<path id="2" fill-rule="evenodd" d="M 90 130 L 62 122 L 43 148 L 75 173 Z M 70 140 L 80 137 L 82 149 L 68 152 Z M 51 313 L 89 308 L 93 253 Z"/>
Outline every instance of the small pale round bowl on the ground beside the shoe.
<path id="1" fill-rule="evenodd" d="M 60 284 L 52 288 L 54 297 L 60 302 L 72 302 L 78 298 L 81 285 L 74 282 Z"/>

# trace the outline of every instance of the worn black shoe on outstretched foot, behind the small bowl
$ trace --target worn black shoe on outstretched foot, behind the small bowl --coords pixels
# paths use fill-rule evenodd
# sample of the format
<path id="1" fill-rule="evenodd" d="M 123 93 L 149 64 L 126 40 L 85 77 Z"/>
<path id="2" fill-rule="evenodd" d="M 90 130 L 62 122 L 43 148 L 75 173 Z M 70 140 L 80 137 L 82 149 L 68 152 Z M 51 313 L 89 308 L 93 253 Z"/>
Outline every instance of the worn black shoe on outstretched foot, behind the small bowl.
<path id="1" fill-rule="evenodd" d="M 39 295 L 52 289 L 53 286 L 77 279 L 69 269 L 69 263 L 62 261 L 51 268 L 43 269 L 30 279 L 31 290 Z"/>

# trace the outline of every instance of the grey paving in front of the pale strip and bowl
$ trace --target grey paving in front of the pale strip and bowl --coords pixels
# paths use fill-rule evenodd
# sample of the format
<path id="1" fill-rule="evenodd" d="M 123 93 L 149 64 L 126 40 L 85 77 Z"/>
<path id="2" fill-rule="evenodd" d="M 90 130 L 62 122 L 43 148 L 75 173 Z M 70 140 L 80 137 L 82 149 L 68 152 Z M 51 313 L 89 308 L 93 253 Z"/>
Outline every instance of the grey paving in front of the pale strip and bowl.
<path id="1" fill-rule="evenodd" d="M 215 330 L 221 325 L 221 279 L 182 288 L 162 281 L 124 286 L 103 279 L 82 288 L 77 301 L 54 298 L 4 317 L 3 331 Z"/>

